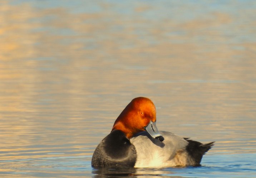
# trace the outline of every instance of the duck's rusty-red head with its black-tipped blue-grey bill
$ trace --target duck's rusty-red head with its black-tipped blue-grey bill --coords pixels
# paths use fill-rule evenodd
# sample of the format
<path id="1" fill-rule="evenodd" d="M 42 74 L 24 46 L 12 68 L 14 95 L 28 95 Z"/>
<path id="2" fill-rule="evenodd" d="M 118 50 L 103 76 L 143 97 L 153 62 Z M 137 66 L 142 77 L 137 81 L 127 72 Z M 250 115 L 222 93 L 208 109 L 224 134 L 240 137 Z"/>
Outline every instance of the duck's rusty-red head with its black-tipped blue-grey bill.
<path id="1" fill-rule="evenodd" d="M 147 130 L 148 133 L 163 141 L 163 137 L 157 131 L 156 107 L 154 103 L 144 97 L 134 98 L 115 120 L 112 131 L 117 129 L 125 133 L 127 138 L 134 134 Z"/>

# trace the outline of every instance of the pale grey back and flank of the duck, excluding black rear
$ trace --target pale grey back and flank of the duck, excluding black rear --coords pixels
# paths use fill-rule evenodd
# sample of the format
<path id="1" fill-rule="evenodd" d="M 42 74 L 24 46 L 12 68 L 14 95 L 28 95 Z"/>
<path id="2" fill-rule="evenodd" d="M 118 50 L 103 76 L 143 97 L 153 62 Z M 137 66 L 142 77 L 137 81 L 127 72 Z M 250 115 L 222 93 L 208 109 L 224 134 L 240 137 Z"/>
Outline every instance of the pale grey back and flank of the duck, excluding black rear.
<path id="1" fill-rule="evenodd" d="M 159 132 L 164 137 L 163 142 L 152 138 L 147 132 L 141 132 L 131 138 L 130 141 L 137 151 L 135 167 L 178 166 L 175 157 L 177 154 L 185 154 L 188 142 L 174 133 Z M 182 162 L 181 159 L 179 161 Z"/>

